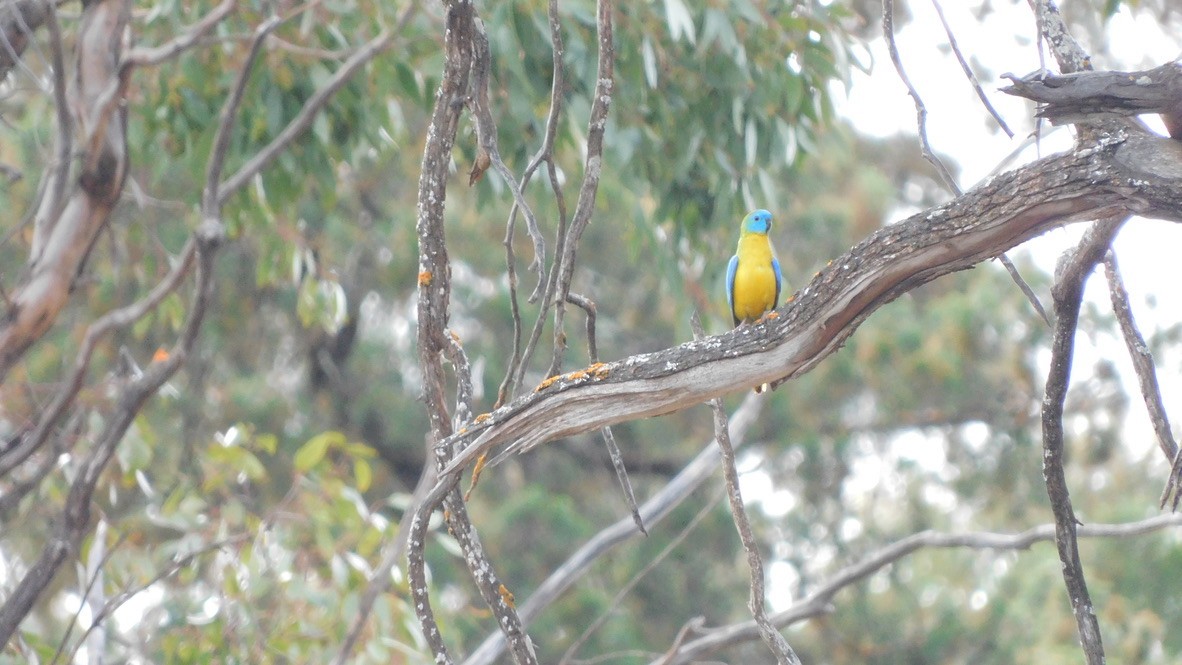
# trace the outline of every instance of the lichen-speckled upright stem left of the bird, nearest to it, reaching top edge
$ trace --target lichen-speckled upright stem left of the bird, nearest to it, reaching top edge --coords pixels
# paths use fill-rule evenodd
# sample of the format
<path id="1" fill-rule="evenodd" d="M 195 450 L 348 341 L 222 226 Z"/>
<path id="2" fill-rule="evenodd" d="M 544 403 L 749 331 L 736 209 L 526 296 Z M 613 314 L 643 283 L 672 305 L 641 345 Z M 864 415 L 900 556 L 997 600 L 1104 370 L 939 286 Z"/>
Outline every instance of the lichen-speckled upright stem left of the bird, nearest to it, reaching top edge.
<path id="1" fill-rule="evenodd" d="M 603 133 L 608 124 L 608 111 L 611 109 L 611 96 L 615 86 L 616 47 L 612 43 L 612 0 L 599 0 L 596 4 L 596 30 L 599 35 L 599 63 L 595 85 L 595 97 L 591 100 L 591 117 L 587 120 L 587 157 L 583 170 L 583 187 L 574 203 L 574 215 L 566 232 L 561 261 L 558 262 L 558 285 L 554 294 L 554 356 L 550 363 L 547 377 L 559 372 L 566 351 L 566 332 L 563 327 L 566 294 L 571 291 L 571 278 L 574 275 L 574 254 L 578 250 L 583 232 L 595 214 L 595 197 L 599 190 L 599 174 L 603 169 Z"/>

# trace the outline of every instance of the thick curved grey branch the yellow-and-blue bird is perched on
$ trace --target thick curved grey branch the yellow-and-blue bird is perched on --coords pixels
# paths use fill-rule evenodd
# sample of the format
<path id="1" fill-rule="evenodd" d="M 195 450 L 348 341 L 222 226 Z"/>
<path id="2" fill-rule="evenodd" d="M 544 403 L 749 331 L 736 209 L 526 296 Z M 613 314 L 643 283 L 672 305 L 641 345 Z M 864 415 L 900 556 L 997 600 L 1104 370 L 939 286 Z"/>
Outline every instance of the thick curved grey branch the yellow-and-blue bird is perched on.
<path id="1" fill-rule="evenodd" d="M 494 449 L 501 456 L 520 452 L 760 383 L 782 383 L 810 371 L 872 312 L 903 293 L 1048 229 L 1119 213 L 1182 221 L 1182 145 L 1119 135 L 1001 174 L 871 234 L 821 269 L 764 325 L 544 383 L 441 442 L 465 448 L 444 475 L 457 474 Z M 436 501 L 441 496 L 433 495 Z"/>

